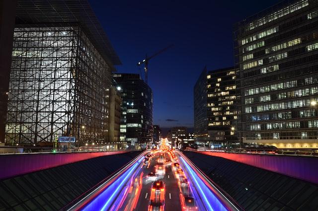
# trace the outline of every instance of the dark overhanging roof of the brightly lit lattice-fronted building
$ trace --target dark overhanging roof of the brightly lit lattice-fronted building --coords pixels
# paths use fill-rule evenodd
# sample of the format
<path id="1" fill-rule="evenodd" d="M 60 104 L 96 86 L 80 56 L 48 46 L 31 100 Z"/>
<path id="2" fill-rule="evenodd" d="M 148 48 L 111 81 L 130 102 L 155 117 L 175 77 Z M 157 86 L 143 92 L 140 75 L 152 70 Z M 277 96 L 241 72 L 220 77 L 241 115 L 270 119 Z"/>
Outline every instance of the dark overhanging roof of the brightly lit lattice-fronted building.
<path id="1" fill-rule="evenodd" d="M 16 24 L 76 23 L 104 58 L 121 65 L 107 34 L 87 0 L 17 0 Z"/>

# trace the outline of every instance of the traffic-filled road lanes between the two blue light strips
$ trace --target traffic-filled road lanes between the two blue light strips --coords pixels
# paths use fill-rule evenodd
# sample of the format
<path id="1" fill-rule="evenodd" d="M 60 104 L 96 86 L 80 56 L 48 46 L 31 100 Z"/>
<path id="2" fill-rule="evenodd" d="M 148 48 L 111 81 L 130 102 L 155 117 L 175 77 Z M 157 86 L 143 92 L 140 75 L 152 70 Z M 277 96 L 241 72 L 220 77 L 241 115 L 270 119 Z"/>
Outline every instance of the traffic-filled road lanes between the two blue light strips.
<path id="1" fill-rule="evenodd" d="M 146 156 L 141 170 L 132 178 L 126 199 L 119 210 L 181 211 L 182 203 L 186 204 L 183 210 L 187 210 L 187 205 L 192 205 L 191 210 L 197 210 L 195 202 L 189 198 L 192 197 L 191 189 L 181 170 L 172 151 L 152 151 Z M 177 173 L 178 171 L 180 173 Z M 162 186 L 158 191 L 157 184 Z M 186 202 L 184 197 L 187 199 Z"/>

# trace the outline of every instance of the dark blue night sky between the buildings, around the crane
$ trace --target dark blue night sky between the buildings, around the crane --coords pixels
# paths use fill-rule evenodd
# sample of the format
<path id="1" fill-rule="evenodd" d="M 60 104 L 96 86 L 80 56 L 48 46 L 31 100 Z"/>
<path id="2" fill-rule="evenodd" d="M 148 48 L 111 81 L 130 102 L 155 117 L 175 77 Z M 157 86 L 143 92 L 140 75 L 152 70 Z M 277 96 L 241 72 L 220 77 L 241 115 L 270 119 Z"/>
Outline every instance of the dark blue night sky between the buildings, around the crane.
<path id="1" fill-rule="evenodd" d="M 160 127 L 193 127 L 193 86 L 204 66 L 233 66 L 233 24 L 279 2 L 89 1 L 122 61 L 118 72 L 140 73 L 136 64 L 146 53 L 174 44 L 149 63 L 154 123 Z"/>

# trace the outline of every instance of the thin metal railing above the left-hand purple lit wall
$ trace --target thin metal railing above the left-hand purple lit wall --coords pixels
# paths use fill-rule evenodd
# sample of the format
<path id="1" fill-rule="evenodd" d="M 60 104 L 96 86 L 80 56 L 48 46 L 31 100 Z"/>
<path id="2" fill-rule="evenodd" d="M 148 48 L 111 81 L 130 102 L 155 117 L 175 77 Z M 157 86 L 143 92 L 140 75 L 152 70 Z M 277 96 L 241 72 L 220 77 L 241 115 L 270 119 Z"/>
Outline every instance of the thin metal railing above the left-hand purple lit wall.
<path id="1" fill-rule="evenodd" d="M 140 151 L 140 149 L 110 148 L 106 146 L 80 147 L 38 147 L 38 146 L 0 146 L 0 154 L 21 153 L 68 153 L 68 152 L 112 152 L 112 151 Z"/>

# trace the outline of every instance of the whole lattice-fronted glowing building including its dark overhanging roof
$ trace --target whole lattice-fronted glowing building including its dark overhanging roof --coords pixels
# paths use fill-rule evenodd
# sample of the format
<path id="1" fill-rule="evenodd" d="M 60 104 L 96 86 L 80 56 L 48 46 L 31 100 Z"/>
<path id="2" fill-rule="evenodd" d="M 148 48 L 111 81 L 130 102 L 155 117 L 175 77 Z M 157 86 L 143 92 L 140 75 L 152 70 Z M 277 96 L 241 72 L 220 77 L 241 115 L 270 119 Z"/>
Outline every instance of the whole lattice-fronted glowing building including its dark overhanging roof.
<path id="1" fill-rule="evenodd" d="M 120 61 L 88 1 L 18 0 L 12 46 L 6 143 L 105 141 Z"/>

